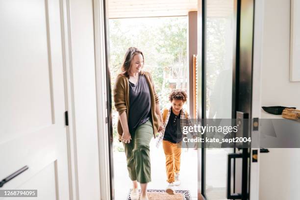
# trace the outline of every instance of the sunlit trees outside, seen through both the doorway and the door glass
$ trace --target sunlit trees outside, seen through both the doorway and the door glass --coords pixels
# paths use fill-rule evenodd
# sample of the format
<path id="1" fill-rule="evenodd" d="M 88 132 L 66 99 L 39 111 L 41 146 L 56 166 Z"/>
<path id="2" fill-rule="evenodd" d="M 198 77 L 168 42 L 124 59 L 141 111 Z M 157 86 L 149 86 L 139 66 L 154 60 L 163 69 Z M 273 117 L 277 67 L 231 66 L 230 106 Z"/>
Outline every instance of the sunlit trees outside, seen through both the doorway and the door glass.
<path id="1" fill-rule="evenodd" d="M 125 51 L 137 47 L 145 56 L 144 70 L 153 77 L 161 108 L 169 106 L 168 96 L 173 88 L 187 90 L 187 17 L 133 18 L 109 20 L 109 68 L 111 87 L 120 73 Z M 232 59 L 230 45 L 226 38 L 232 37 L 230 20 L 226 18 L 209 18 L 207 20 L 206 40 L 206 108 L 210 109 L 211 92 L 216 87 L 220 72 L 224 71 L 226 59 Z M 229 32 L 228 32 L 229 30 Z M 227 56 L 227 57 L 226 57 Z M 229 77 L 230 78 L 230 77 Z M 118 113 L 113 105 L 114 150 L 123 151 L 118 142 Z"/>

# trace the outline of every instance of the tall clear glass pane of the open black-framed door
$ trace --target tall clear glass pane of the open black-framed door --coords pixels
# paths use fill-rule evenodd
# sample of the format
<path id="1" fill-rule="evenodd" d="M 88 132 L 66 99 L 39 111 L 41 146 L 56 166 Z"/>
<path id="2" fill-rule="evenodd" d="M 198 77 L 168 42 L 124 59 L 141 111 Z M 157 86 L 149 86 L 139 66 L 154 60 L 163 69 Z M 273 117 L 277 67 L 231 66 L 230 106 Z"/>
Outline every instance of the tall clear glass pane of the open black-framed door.
<path id="1" fill-rule="evenodd" d="M 206 118 L 231 119 L 234 0 L 207 0 L 206 5 Z M 233 149 L 205 151 L 205 196 L 226 200 L 227 154 Z"/>

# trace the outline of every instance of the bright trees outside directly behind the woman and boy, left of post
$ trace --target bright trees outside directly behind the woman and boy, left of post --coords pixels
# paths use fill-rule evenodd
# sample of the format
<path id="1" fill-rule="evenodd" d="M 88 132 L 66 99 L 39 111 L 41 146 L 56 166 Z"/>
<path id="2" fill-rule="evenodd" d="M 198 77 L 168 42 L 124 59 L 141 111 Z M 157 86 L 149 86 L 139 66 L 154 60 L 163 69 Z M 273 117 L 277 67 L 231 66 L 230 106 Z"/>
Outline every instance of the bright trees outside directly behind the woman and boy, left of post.
<path id="1" fill-rule="evenodd" d="M 186 90 L 187 17 L 110 19 L 109 69 L 112 88 L 129 47 L 143 51 L 144 70 L 153 77 L 161 108 L 169 105 L 168 95 L 173 88 Z M 112 105 L 114 149 L 123 151 L 122 144 L 117 142 L 118 113 L 114 103 Z"/>

